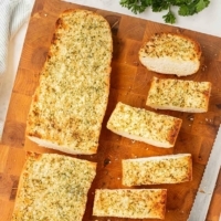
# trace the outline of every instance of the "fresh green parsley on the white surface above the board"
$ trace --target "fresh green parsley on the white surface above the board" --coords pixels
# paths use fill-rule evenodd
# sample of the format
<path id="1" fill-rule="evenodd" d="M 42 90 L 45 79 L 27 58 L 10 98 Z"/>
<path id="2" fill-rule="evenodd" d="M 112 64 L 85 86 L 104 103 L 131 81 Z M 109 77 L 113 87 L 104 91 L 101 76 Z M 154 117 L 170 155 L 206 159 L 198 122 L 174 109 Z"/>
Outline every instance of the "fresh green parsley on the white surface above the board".
<path id="1" fill-rule="evenodd" d="M 162 15 L 166 23 L 176 23 L 175 12 L 171 11 L 171 7 L 178 7 L 178 14 L 182 17 L 192 15 L 199 13 L 210 4 L 210 0 L 120 0 L 122 7 L 129 9 L 133 13 L 141 13 L 148 7 L 154 12 L 160 12 L 168 10 Z"/>

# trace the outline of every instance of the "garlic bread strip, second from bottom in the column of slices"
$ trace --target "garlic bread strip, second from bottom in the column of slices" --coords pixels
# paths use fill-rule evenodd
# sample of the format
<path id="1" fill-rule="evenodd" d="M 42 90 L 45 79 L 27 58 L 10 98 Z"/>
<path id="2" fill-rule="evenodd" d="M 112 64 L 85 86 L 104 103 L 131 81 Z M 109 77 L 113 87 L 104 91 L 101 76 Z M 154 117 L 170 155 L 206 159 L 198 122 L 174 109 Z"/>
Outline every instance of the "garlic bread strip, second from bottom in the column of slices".
<path id="1" fill-rule="evenodd" d="M 123 159 L 123 185 L 180 183 L 192 180 L 190 154 Z"/>

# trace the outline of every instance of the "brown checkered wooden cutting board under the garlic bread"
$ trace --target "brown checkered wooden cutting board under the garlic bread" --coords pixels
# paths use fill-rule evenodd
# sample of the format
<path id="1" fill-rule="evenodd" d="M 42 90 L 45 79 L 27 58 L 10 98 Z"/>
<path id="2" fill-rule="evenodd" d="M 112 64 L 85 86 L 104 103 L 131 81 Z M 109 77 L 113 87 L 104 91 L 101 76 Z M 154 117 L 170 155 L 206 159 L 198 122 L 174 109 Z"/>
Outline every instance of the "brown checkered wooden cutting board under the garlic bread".
<path id="1" fill-rule="evenodd" d="M 11 96 L 2 143 L 0 144 L 0 220 L 8 221 L 14 206 L 18 181 L 25 159 L 25 151 L 55 152 L 38 147 L 25 139 L 25 120 L 31 96 L 39 81 L 39 72 L 45 61 L 54 32 L 54 23 L 65 9 L 88 9 L 104 15 L 109 22 L 114 40 L 110 93 L 96 155 L 74 156 L 97 162 L 97 176 L 88 193 L 84 221 L 119 221 L 128 219 L 96 218 L 92 215 L 96 188 L 124 188 L 122 186 L 120 160 L 190 152 L 193 157 L 193 180 L 180 185 L 145 186 L 143 188 L 167 188 L 166 221 L 186 221 L 204 166 L 221 124 L 221 39 L 167 24 L 159 24 L 114 12 L 66 3 L 59 0 L 36 0 L 31 15 L 24 48 Z M 206 25 L 209 25 L 206 24 Z M 176 146 L 170 149 L 156 148 L 113 134 L 106 129 L 107 119 L 117 102 L 136 107 L 145 105 L 149 81 L 160 74 L 147 71 L 138 61 L 141 43 L 156 32 L 178 32 L 197 40 L 202 48 L 202 62 L 198 73 L 183 80 L 210 81 L 212 92 L 208 113 L 189 114 L 158 110 L 182 118 L 182 127 Z M 171 76 L 176 77 L 176 76 Z M 61 152 L 60 152 L 61 154 Z M 221 212 L 221 172 L 219 175 L 207 221 L 218 221 Z M 144 219 L 143 219 L 144 220 Z"/>

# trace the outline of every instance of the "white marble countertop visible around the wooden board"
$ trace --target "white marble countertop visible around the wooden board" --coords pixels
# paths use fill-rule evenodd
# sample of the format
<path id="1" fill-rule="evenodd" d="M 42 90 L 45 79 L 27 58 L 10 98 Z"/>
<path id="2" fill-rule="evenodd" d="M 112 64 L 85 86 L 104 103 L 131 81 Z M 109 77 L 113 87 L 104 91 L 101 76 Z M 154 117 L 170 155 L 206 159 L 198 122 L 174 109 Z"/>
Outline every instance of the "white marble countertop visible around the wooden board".
<path id="1" fill-rule="evenodd" d="M 34 2 L 34 0 L 31 0 Z M 138 17 L 141 19 L 164 23 L 162 14 L 166 12 L 152 12 L 151 9 L 144 13 L 134 14 L 128 9 L 119 4 L 119 0 L 63 0 L 76 4 L 88 6 L 93 8 L 115 11 L 123 14 Z M 172 8 L 176 12 L 176 8 Z M 221 3 L 220 0 L 211 0 L 210 6 L 198 14 L 192 17 L 177 15 L 176 27 L 186 28 L 206 34 L 221 38 Z M 8 112 L 10 96 L 23 48 L 24 36 L 28 29 L 28 22 L 22 25 L 18 33 L 13 36 L 9 44 L 9 66 L 3 78 L 3 85 L 0 92 L 0 139 L 2 136 L 3 125 Z"/>

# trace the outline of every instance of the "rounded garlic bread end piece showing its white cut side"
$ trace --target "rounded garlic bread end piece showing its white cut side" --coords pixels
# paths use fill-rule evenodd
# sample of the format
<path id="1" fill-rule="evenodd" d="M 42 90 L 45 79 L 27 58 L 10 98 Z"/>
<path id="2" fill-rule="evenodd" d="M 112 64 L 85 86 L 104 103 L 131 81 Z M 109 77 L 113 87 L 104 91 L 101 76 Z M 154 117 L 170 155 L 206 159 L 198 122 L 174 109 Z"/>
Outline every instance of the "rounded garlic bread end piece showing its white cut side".
<path id="1" fill-rule="evenodd" d="M 177 33 L 156 33 L 139 50 L 139 60 L 148 70 L 178 76 L 191 75 L 200 67 L 199 43 Z"/>

